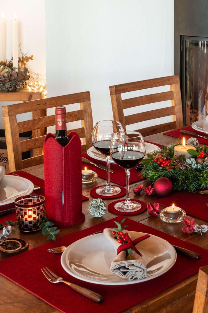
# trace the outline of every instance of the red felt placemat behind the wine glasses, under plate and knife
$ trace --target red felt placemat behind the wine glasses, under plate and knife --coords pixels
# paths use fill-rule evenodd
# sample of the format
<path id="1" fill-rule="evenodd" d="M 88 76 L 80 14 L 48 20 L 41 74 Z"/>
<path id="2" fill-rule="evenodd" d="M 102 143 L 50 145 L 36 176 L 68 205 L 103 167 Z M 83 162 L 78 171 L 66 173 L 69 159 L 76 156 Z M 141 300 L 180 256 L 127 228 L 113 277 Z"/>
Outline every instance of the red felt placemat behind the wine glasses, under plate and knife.
<path id="1" fill-rule="evenodd" d="M 146 142 L 153 143 L 154 145 L 157 145 L 159 148 L 162 148 L 162 145 L 159 145 L 157 143 L 150 142 L 150 141 L 146 141 Z M 82 156 L 88 159 L 89 161 L 106 166 L 106 162 L 93 159 L 87 153 L 82 153 Z M 85 167 L 96 172 L 99 177 L 106 179 L 105 170 L 101 170 L 92 164 L 87 164 L 87 163 L 82 162 L 82 170 L 84 170 Z M 110 181 L 115 182 L 116 184 L 119 184 L 122 186 L 126 186 L 126 174 L 125 174 L 124 168 L 120 167 L 118 164 L 110 163 L 110 169 L 114 171 L 114 173 L 110 173 Z M 141 171 L 136 171 L 135 167 L 133 167 L 131 169 L 131 174 L 130 174 L 130 184 L 133 182 L 138 182 L 141 179 L 143 179 L 143 177 L 141 176 Z"/>

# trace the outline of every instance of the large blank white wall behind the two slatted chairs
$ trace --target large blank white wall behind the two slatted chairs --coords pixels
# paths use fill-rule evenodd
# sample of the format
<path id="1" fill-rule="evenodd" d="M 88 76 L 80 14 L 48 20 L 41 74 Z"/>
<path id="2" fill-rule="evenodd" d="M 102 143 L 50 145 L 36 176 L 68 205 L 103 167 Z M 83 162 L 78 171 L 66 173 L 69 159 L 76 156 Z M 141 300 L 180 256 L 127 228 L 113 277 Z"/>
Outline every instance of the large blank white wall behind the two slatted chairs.
<path id="1" fill-rule="evenodd" d="M 45 2 L 48 96 L 89 90 L 94 123 L 110 85 L 173 74 L 173 0 Z"/>

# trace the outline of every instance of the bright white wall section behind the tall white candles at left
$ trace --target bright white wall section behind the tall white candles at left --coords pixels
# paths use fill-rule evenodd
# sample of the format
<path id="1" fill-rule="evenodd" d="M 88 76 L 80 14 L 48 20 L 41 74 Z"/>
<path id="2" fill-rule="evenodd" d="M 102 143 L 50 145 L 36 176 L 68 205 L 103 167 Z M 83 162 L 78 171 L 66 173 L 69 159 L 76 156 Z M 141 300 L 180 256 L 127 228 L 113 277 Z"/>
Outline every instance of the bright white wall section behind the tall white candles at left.
<path id="1" fill-rule="evenodd" d="M 45 0 L 0 0 L 0 17 L 4 13 L 7 20 L 6 33 L 6 58 L 11 59 L 12 55 L 12 25 L 14 13 L 17 12 L 19 21 L 19 44 L 21 43 L 22 52 L 33 54 L 33 61 L 27 63 L 30 71 L 46 74 L 46 34 L 45 34 Z M 18 56 L 22 56 L 18 50 Z M 2 105 L 18 102 L 0 101 L 0 129 L 3 129 Z M 21 116 L 20 120 L 24 120 Z"/>

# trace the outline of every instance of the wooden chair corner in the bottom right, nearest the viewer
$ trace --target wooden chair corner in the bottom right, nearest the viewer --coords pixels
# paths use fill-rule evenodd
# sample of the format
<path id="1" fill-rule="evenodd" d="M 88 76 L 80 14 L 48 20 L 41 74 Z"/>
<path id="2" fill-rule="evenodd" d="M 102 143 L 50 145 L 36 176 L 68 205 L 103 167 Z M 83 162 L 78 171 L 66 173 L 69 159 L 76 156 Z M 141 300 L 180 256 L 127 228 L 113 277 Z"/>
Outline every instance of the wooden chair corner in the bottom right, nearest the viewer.
<path id="1" fill-rule="evenodd" d="M 208 265 L 199 269 L 193 313 L 208 312 Z"/>

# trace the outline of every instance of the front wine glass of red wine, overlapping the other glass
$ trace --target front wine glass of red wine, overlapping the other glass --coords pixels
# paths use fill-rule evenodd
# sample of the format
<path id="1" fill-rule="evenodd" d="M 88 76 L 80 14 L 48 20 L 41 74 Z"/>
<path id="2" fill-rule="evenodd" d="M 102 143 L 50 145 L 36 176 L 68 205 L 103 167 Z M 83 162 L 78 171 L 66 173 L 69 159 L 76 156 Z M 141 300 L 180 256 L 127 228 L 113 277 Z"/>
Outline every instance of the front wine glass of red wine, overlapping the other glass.
<path id="1" fill-rule="evenodd" d="M 145 152 L 143 136 L 137 131 L 120 131 L 114 135 L 111 141 L 111 157 L 126 171 L 126 200 L 115 204 L 115 209 L 118 211 L 133 212 L 142 207 L 140 203 L 131 201 L 129 198 L 129 178 L 131 168 L 142 161 Z"/>

